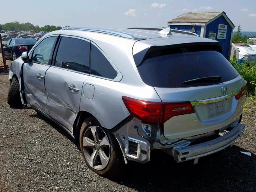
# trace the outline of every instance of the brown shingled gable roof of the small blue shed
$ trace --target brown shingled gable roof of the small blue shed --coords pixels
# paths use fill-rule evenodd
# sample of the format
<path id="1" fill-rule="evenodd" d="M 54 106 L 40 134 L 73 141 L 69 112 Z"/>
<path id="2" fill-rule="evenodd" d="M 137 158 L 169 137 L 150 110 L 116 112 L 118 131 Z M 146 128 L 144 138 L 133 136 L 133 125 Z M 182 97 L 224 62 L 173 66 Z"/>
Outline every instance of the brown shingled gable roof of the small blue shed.
<path id="1" fill-rule="evenodd" d="M 230 26 L 234 29 L 234 24 L 232 21 L 226 16 L 226 13 L 224 11 L 212 11 L 212 12 L 188 12 L 184 13 L 170 21 L 168 21 L 168 24 L 173 23 L 202 23 L 202 24 L 208 24 L 215 20 L 216 18 L 224 16 L 224 18 L 227 20 L 227 22 L 230 24 Z"/>

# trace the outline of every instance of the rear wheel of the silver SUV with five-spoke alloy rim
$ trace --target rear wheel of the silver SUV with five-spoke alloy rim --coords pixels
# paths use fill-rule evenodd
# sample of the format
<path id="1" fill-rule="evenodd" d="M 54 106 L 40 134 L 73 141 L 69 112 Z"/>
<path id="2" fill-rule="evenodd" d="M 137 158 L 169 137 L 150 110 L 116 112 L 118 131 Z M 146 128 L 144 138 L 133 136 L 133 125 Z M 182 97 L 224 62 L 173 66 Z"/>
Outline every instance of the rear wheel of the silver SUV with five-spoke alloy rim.
<path id="1" fill-rule="evenodd" d="M 99 175 L 115 178 L 121 173 L 124 159 L 113 134 L 103 129 L 96 118 L 84 120 L 80 130 L 80 149 L 86 165 Z"/>

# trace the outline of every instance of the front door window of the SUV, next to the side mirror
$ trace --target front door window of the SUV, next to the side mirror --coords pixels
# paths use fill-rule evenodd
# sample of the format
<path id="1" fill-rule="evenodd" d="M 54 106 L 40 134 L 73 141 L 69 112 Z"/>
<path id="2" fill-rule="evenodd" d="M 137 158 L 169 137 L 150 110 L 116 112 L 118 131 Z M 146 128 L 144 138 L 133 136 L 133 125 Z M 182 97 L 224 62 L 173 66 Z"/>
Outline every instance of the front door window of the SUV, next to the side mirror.
<path id="1" fill-rule="evenodd" d="M 50 56 L 57 37 L 48 37 L 42 40 L 33 51 L 32 60 L 42 64 L 50 64 Z"/>

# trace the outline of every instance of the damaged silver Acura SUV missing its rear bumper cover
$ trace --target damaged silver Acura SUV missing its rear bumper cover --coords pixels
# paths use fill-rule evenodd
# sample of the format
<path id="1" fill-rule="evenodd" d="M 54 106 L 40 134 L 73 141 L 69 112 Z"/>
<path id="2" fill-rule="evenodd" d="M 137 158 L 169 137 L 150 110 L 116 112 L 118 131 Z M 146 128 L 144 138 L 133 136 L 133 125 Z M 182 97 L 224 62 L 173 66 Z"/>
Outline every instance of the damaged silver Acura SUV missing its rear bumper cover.
<path id="1" fill-rule="evenodd" d="M 60 125 L 103 176 L 152 150 L 196 164 L 244 129 L 246 81 L 218 41 L 189 32 L 63 28 L 14 60 L 9 78 L 8 103 Z"/>

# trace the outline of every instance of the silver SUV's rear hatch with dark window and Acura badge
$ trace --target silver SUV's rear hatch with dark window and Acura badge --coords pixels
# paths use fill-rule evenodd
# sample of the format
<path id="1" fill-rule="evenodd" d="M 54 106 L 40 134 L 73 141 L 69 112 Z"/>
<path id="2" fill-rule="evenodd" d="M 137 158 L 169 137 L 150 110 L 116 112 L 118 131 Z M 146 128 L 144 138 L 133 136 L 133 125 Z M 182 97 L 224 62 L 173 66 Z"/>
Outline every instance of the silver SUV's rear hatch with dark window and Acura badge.
<path id="1" fill-rule="evenodd" d="M 195 39 L 182 44 L 146 40 L 146 48 L 138 51 L 138 46 L 143 47 L 141 41 L 134 49 L 142 80 L 155 88 L 162 102 L 190 102 L 194 108 L 193 113 L 173 116 L 164 122 L 166 138 L 218 130 L 238 121 L 242 113 L 243 99 L 235 96 L 244 80 L 222 55 L 218 42 Z"/>

